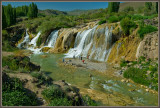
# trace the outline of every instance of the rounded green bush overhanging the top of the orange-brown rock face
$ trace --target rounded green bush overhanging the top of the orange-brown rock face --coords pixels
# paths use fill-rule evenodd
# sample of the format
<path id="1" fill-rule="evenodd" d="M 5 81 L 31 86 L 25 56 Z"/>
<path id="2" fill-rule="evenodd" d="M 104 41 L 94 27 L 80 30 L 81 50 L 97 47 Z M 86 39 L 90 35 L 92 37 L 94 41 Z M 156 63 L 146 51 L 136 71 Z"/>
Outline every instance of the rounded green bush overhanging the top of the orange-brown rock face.
<path id="1" fill-rule="evenodd" d="M 130 18 L 125 17 L 121 20 L 120 25 L 122 27 L 122 31 L 124 35 L 128 36 L 130 34 L 131 28 L 136 28 L 136 24 Z"/>

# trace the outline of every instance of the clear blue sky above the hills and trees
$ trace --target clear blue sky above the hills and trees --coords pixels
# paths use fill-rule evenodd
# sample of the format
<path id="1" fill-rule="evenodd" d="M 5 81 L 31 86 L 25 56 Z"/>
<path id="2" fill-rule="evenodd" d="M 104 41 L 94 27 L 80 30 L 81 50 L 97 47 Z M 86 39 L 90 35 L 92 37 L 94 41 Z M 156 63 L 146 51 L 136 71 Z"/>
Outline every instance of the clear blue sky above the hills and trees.
<path id="1" fill-rule="evenodd" d="M 2 2 L 2 5 L 11 4 L 13 7 L 29 5 L 31 2 Z M 71 11 L 75 9 L 88 10 L 107 8 L 108 2 L 34 2 L 38 9 L 54 9 L 60 11 Z"/>

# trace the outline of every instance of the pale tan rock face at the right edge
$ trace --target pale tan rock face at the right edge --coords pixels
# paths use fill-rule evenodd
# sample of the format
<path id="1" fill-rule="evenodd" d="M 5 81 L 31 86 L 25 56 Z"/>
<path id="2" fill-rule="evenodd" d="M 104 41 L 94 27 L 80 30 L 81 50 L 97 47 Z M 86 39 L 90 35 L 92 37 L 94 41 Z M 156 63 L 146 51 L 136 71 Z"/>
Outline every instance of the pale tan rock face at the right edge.
<path id="1" fill-rule="evenodd" d="M 144 56 L 150 59 L 158 58 L 158 32 L 147 34 L 140 42 L 136 57 Z"/>

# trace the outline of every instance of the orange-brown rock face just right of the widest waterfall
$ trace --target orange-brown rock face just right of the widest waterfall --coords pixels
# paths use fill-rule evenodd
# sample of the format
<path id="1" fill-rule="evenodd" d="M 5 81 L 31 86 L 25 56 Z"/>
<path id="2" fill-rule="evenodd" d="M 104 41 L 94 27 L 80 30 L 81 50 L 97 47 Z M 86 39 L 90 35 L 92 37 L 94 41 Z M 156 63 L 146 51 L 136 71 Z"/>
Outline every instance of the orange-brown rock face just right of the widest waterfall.
<path id="1" fill-rule="evenodd" d="M 121 37 L 112 47 L 108 57 L 108 63 L 120 63 L 122 59 L 126 61 L 136 60 L 136 52 L 140 43 L 137 37 L 137 29 L 128 37 Z"/>

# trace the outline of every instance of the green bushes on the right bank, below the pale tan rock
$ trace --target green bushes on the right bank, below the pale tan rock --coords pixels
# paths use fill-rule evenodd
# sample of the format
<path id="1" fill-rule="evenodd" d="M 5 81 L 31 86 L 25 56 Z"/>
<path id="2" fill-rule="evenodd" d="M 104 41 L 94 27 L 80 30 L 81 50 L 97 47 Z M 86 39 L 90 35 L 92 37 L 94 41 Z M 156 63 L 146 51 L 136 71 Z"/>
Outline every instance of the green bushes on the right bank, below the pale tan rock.
<path id="1" fill-rule="evenodd" d="M 158 63 L 140 57 L 138 61 L 131 62 L 131 65 L 123 66 L 128 66 L 123 74 L 125 78 L 158 91 Z"/>

